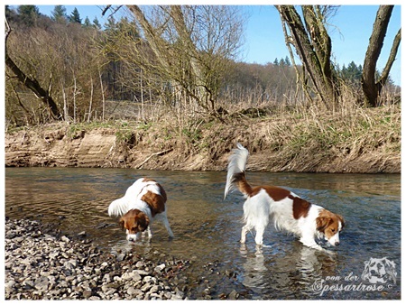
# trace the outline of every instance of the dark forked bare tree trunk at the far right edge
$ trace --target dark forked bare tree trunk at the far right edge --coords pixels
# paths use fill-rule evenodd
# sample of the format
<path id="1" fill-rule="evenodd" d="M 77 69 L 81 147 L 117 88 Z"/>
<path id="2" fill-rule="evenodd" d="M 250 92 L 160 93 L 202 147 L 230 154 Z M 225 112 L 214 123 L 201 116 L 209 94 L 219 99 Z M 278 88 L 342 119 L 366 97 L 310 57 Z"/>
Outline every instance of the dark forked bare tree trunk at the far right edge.
<path id="1" fill-rule="evenodd" d="M 378 106 L 378 97 L 389 78 L 389 72 L 395 60 L 396 53 L 401 44 L 401 29 L 396 34 L 389 58 L 379 78 L 376 79 L 376 63 L 383 48 L 383 40 L 386 35 L 388 24 L 391 19 L 393 5 L 380 5 L 374 22 L 373 32 L 369 39 L 368 49 L 365 53 L 364 68 L 362 75 L 362 87 L 364 91 L 364 106 Z"/>

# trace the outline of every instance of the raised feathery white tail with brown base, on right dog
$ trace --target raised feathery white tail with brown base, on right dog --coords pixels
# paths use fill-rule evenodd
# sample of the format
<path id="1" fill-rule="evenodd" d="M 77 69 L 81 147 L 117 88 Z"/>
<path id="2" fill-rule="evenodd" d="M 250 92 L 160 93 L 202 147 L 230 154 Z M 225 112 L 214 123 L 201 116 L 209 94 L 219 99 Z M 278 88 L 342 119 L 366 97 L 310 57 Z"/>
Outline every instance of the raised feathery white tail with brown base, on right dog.
<path id="1" fill-rule="evenodd" d="M 240 143 L 236 144 L 237 148 L 233 149 L 228 158 L 226 189 L 224 198 L 234 189 L 239 189 L 245 196 L 252 192 L 251 186 L 245 180 L 245 165 L 249 152 Z"/>

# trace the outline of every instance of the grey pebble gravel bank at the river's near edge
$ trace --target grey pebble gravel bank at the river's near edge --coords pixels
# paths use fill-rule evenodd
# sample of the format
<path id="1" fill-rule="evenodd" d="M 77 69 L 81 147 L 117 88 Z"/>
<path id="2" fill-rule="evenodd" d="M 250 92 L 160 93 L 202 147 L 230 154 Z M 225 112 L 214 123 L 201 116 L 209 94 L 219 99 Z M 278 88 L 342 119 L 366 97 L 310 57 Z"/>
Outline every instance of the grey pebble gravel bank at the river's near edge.
<path id="1" fill-rule="evenodd" d="M 189 261 L 104 253 L 30 219 L 5 219 L 5 300 L 186 300 Z"/>

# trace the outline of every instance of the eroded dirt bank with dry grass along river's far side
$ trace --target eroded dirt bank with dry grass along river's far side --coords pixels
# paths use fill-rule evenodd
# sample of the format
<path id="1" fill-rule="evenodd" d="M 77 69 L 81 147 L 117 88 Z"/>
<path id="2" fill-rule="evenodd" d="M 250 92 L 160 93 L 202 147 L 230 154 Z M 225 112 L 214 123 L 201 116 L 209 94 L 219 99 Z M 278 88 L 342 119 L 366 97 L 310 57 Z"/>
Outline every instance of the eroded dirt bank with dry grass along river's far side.
<path id="1" fill-rule="evenodd" d="M 360 110 L 343 116 L 239 117 L 173 125 L 115 121 L 58 123 L 8 131 L 5 166 L 131 167 L 224 171 L 235 143 L 249 171 L 401 172 L 401 114 Z"/>

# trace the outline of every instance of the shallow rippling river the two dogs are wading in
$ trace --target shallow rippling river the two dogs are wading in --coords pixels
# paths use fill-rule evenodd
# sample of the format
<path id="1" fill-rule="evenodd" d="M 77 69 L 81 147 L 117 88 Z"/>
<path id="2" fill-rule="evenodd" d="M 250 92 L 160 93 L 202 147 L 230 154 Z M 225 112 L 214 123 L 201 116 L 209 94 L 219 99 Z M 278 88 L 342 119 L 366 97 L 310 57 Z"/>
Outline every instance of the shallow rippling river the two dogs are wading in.
<path id="1" fill-rule="evenodd" d="M 110 202 L 143 176 L 168 193 L 172 240 L 154 223 L 151 243 L 129 244 L 117 219 L 107 215 Z M 7 168 L 5 216 L 58 222 L 69 234 L 86 231 L 105 251 L 148 256 L 157 250 L 188 259 L 184 274 L 192 298 L 230 291 L 260 300 L 401 298 L 401 175 L 248 172 L 247 179 L 291 189 L 341 214 L 341 244 L 310 250 L 269 226 L 265 247 L 257 249 L 250 233 L 240 245 L 243 198 L 232 193 L 223 200 L 224 171 Z M 362 279 L 365 268 L 372 279 Z"/>

